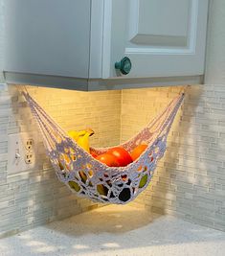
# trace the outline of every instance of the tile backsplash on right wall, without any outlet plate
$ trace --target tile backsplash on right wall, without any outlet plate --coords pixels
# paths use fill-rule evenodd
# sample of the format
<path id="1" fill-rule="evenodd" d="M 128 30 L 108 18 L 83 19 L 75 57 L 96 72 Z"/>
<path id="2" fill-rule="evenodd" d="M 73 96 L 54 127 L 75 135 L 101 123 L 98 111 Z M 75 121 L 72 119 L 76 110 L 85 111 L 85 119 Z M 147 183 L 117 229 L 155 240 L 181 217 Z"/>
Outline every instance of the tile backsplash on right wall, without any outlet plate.
<path id="1" fill-rule="evenodd" d="M 167 105 L 179 87 L 124 90 L 124 141 Z M 225 231 L 225 86 L 195 85 L 169 133 L 153 180 L 134 202 Z"/>

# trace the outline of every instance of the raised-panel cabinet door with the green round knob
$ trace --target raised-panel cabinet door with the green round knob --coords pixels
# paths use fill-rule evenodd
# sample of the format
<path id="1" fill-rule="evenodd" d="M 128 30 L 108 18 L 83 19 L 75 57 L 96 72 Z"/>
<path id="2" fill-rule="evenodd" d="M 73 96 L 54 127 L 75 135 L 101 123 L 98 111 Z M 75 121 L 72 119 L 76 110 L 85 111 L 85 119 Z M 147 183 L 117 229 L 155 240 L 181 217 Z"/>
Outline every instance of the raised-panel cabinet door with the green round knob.
<path id="1" fill-rule="evenodd" d="M 103 78 L 124 57 L 130 78 L 202 75 L 207 13 L 208 0 L 106 0 Z"/>

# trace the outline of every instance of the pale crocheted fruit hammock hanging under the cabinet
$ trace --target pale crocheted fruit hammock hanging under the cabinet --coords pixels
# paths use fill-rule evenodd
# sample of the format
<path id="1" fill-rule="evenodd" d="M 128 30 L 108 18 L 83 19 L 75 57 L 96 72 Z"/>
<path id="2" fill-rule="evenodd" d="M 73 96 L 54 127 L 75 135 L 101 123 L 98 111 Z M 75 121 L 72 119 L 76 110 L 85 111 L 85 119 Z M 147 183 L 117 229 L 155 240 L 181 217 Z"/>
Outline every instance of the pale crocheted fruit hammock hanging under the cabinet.
<path id="1" fill-rule="evenodd" d="M 84 151 L 38 105 L 28 92 L 23 92 L 43 135 L 47 154 L 60 181 L 80 197 L 104 203 L 124 204 L 144 191 L 154 173 L 157 162 L 166 151 L 169 129 L 181 105 L 184 94 L 169 105 L 122 147 L 132 151 L 147 143 L 146 151 L 125 167 L 108 167 Z M 109 148 L 92 148 L 101 154 Z"/>

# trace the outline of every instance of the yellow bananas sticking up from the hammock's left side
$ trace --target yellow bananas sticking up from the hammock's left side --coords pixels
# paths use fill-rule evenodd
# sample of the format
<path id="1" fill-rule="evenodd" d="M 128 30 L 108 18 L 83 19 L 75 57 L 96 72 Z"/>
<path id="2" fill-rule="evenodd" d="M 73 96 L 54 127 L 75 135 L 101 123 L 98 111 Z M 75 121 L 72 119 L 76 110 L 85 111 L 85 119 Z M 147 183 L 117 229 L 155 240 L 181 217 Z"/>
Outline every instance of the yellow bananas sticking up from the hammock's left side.
<path id="1" fill-rule="evenodd" d="M 86 128 L 80 131 L 68 131 L 68 135 L 78 143 L 79 147 L 88 152 L 90 152 L 89 137 L 92 136 L 94 133 L 95 132 L 91 128 Z"/>

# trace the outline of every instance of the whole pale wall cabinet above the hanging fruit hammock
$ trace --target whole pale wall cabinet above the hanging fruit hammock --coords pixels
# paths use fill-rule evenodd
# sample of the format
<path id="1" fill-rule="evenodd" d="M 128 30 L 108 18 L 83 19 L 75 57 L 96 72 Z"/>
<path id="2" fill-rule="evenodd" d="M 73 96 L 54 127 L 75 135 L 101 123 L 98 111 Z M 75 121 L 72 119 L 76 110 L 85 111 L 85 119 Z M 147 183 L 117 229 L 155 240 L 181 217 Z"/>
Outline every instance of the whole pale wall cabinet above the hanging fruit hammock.
<path id="1" fill-rule="evenodd" d="M 8 82 L 98 90 L 196 83 L 204 75 L 208 0 L 5 5 Z"/>

